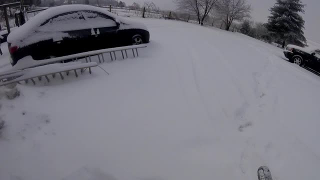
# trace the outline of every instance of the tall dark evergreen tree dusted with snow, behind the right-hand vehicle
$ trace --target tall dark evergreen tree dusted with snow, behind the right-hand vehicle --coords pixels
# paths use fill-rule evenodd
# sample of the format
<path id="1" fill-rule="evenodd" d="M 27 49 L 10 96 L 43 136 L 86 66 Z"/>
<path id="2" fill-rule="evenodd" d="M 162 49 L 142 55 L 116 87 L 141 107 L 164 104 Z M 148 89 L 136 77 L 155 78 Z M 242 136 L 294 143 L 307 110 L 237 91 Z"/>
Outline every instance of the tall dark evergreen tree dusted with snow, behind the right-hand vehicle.
<path id="1" fill-rule="evenodd" d="M 302 42 L 306 42 L 303 35 L 304 20 L 298 12 L 304 13 L 304 6 L 301 0 L 276 0 L 265 24 L 269 35 L 283 41 L 283 44 L 288 42 L 303 45 Z"/>

